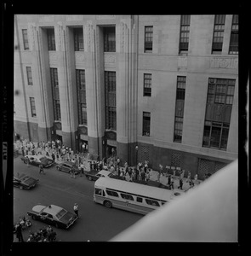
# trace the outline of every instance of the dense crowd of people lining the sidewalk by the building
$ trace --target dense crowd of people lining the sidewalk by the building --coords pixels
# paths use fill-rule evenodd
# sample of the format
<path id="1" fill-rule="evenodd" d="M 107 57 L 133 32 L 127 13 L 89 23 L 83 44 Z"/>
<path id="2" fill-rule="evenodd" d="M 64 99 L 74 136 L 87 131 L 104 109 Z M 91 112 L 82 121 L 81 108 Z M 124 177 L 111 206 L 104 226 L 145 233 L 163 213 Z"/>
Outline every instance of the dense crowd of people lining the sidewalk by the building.
<path id="1" fill-rule="evenodd" d="M 74 152 L 70 147 L 66 147 L 60 140 L 33 143 L 28 140 L 19 141 L 20 149 L 23 155 L 26 154 L 46 154 L 56 162 L 71 161 L 74 163 L 80 173 L 83 174 L 85 169 L 84 162 L 88 161 L 90 171 L 101 171 L 106 170 L 112 172 L 114 175 L 121 179 L 128 180 L 130 182 L 148 182 L 151 177 L 151 168 L 149 167 L 149 161 L 145 160 L 144 163 L 138 163 L 137 166 L 128 166 L 125 162 L 122 166 L 122 160 L 117 156 L 114 148 L 111 150 L 110 157 L 104 157 L 100 159 L 98 155 L 96 160 L 88 153 L 88 147 L 83 144 L 82 152 Z M 128 175 L 128 179 L 126 176 Z M 72 177 L 75 177 L 74 172 L 71 173 Z M 166 170 L 163 170 L 163 165 L 159 165 L 157 182 L 160 182 L 161 177 L 167 177 L 167 184 L 171 189 L 174 189 L 174 179 L 178 177 L 180 186 L 179 189 L 183 188 L 184 183 L 189 183 L 190 187 L 193 187 L 198 183 L 197 174 L 192 178 L 191 172 L 186 173 L 185 170 L 177 170 L 176 168 L 171 169 L 170 166 L 166 166 Z"/>

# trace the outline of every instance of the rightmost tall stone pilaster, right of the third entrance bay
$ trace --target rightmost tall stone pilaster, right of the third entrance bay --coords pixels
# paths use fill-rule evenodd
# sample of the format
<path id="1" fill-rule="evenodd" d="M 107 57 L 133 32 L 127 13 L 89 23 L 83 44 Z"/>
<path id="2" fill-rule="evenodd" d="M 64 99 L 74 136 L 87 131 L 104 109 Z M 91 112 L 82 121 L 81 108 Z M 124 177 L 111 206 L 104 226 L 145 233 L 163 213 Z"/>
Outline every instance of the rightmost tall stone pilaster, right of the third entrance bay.
<path id="1" fill-rule="evenodd" d="M 117 26 L 117 155 L 135 162 L 137 141 L 137 16 Z"/>

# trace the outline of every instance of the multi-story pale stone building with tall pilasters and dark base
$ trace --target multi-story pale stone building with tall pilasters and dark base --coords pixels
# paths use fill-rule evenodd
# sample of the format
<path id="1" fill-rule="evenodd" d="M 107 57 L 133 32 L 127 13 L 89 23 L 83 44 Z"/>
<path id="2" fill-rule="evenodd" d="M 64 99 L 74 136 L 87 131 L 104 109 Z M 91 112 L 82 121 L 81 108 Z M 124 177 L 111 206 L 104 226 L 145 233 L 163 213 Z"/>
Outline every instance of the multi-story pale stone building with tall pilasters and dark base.
<path id="1" fill-rule="evenodd" d="M 237 15 L 16 15 L 14 131 L 129 164 L 238 153 Z"/>

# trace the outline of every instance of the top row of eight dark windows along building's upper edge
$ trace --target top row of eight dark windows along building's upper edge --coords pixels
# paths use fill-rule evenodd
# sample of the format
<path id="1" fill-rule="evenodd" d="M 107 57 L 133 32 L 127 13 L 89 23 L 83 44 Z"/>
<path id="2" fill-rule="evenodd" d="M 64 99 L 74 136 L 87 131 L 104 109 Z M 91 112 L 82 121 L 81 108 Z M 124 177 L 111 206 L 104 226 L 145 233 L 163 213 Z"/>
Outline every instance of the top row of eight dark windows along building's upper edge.
<path id="1" fill-rule="evenodd" d="M 189 34 L 190 34 L 190 20 L 191 15 L 181 15 L 180 19 L 180 44 L 179 53 L 187 53 L 189 48 Z M 233 15 L 232 25 L 231 25 L 231 38 L 229 45 L 229 54 L 238 54 L 238 15 Z M 214 18 L 214 32 L 213 32 L 213 44 L 212 44 L 212 54 L 220 54 L 223 46 L 225 30 L 225 15 L 215 15 Z M 48 40 L 48 50 L 56 50 L 54 28 L 47 28 L 47 40 Z M 104 27 L 104 51 L 105 52 L 115 52 L 116 51 L 116 32 L 115 27 Z M 29 41 L 27 29 L 22 30 L 24 49 L 29 49 Z M 74 49 L 75 51 L 83 51 L 83 28 L 75 27 L 73 28 L 73 38 L 74 38 Z M 153 26 L 145 26 L 145 42 L 144 51 L 145 53 L 152 52 L 153 44 Z"/>

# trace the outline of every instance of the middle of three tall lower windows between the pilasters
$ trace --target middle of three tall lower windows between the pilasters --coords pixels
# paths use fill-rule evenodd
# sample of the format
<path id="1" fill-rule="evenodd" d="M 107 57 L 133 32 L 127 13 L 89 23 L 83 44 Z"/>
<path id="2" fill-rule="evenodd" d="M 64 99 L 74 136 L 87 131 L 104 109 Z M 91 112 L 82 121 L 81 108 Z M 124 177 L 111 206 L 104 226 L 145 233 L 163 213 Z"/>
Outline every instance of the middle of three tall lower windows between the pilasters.
<path id="1" fill-rule="evenodd" d="M 85 71 L 76 69 L 78 124 L 87 125 Z"/>

